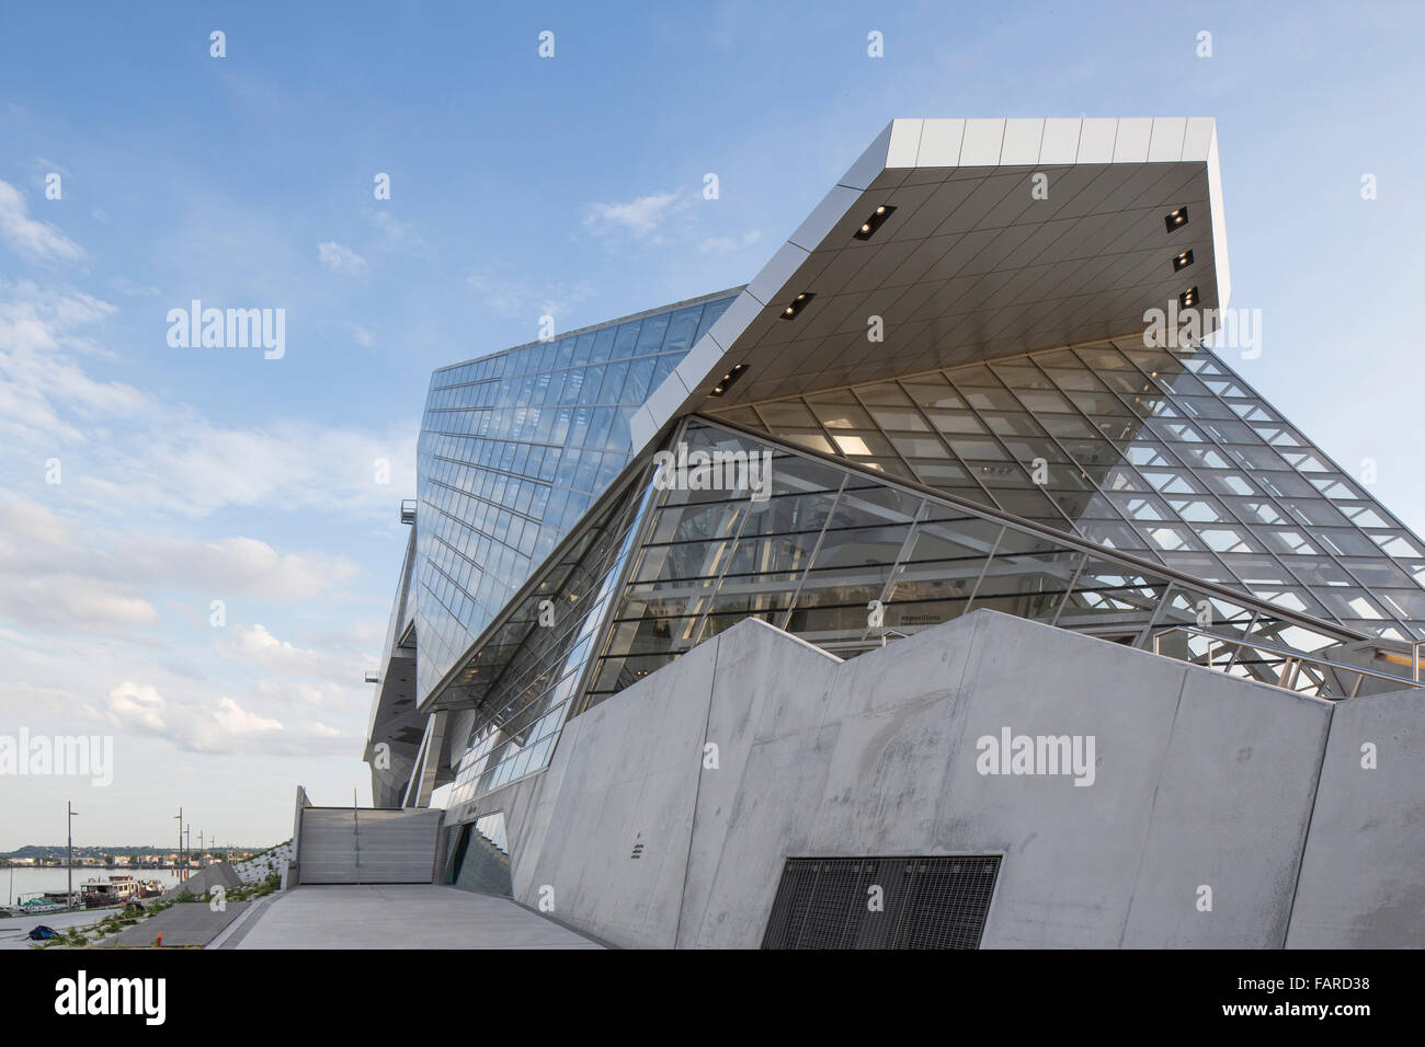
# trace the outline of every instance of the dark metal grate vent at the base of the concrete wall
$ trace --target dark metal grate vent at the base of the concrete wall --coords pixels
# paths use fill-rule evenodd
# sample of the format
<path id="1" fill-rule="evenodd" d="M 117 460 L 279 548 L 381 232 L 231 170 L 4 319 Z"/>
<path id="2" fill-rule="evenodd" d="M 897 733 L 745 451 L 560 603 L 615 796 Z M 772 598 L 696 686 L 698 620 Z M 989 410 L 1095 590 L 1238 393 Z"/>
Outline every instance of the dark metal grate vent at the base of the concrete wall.
<path id="1" fill-rule="evenodd" d="M 762 949 L 979 949 L 998 875 L 999 855 L 788 858 Z"/>

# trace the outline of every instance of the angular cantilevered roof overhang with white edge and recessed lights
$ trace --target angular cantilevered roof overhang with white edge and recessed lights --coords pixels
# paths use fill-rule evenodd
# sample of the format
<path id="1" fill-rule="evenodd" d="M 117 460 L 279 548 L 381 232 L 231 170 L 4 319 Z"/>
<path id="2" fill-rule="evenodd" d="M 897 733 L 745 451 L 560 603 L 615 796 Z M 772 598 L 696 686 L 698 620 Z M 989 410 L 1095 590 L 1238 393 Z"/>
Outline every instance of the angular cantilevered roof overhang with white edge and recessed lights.
<path id="1" fill-rule="evenodd" d="M 634 449 L 704 407 L 1143 330 L 1193 288 L 1226 306 L 1211 118 L 895 120 L 648 397 Z"/>

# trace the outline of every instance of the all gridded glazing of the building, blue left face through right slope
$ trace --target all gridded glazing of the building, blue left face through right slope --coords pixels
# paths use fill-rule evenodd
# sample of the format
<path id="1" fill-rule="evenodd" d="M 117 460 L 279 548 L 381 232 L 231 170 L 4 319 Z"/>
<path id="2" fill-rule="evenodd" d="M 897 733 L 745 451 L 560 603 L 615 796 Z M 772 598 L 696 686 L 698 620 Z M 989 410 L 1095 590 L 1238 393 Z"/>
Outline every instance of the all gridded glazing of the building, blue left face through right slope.
<path id="1" fill-rule="evenodd" d="M 765 453 L 765 500 L 664 483 L 653 449 L 611 490 L 631 415 L 731 299 L 436 372 L 418 694 L 445 679 L 439 704 L 473 711 L 456 821 L 547 766 L 570 717 L 748 617 L 854 657 L 992 608 L 1332 698 L 1392 684 L 1311 658 L 1425 637 L 1425 547 L 1206 349 L 714 409 L 664 447 Z"/>

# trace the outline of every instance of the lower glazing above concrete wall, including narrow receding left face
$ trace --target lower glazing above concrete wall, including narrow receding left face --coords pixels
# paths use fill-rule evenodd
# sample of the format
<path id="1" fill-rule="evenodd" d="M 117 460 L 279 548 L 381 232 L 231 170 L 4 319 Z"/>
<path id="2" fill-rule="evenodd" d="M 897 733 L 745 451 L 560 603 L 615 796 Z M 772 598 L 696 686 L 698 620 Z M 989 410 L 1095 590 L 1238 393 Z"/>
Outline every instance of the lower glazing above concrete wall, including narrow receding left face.
<path id="1" fill-rule="evenodd" d="M 1374 642 L 1154 567 L 1141 550 L 955 503 L 711 417 L 685 420 L 664 446 L 678 444 L 770 453 L 768 497 L 668 487 L 650 464 L 576 533 L 453 691 L 477 708 L 453 818 L 546 766 L 569 717 L 748 617 L 854 657 L 990 608 L 1139 647 L 1159 637 L 1164 654 L 1263 682 L 1280 685 L 1291 668 L 1294 689 L 1322 697 L 1359 684 L 1300 655 L 1349 660 Z M 1211 635 L 1194 632 L 1204 624 Z"/>

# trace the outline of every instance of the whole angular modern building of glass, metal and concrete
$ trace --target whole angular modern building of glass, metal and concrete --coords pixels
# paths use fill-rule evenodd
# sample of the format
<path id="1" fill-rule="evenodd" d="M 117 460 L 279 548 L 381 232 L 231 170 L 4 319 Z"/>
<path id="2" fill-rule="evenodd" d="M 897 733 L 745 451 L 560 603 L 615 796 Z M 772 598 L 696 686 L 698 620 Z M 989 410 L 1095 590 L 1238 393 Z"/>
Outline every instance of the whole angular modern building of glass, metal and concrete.
<path id="1" fill-rule="evenodd" d="M 745 286 L 442 368 L 376 805 L 616 944 L 1425 944 L 1425 544 L 1228 296 L 1211 120 L 896 120 Z"/>

